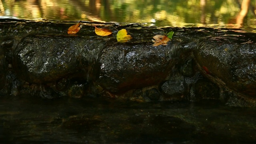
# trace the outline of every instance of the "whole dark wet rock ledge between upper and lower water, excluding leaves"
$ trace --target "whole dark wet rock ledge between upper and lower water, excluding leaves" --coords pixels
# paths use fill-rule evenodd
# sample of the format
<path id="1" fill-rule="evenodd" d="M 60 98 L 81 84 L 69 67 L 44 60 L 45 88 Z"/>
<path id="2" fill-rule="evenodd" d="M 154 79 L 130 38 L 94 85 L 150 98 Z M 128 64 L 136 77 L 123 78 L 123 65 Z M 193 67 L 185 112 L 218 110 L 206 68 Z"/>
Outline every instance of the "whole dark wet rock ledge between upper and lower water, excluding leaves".
<path id="1" fill-rule="evenodd" d="M 111 23 L 99 24 L 113 32 L 102 37 L 95 24 L 82 22 L 77 34 L 68 35 L 73 24 L 0 23 L 0 94 L 256 106 L 253 33 Z M 122 28 L 132 40 L 116 41 Z M 170 31 L 166 46 L 152 46 L 153 36 Z"/>

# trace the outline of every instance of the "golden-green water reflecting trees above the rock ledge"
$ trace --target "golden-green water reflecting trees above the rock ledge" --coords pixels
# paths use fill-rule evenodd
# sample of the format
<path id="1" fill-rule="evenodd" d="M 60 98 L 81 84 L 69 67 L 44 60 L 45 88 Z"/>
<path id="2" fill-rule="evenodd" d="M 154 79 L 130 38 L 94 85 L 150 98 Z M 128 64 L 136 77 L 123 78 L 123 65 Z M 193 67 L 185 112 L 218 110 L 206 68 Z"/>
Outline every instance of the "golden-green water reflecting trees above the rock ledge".
<path id="1" fill-rule="evenodd" d="M 0 0 L 0 16 L 255 28 L 254 6 L 255 0 Z"/>

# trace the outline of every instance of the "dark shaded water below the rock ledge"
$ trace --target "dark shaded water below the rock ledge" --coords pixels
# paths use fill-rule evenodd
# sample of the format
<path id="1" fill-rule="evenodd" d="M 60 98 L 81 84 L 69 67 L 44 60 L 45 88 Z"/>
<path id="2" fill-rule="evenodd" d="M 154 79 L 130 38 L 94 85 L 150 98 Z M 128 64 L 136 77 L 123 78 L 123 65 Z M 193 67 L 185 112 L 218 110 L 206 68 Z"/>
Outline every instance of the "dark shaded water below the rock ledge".
<path id="1" fill-rule="evenodd" d="M 218 102 L 0 98 L 0 141 L 12 144 L 256 142 L 253 108 Z"/>

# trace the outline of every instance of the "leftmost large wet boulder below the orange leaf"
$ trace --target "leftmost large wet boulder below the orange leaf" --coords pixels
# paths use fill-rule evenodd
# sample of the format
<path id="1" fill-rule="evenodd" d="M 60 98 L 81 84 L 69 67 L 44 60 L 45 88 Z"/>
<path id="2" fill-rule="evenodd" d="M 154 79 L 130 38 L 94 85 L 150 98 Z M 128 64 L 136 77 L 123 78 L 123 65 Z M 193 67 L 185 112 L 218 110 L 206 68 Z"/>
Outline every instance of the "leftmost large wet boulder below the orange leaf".
<path id="1" fill-rule="evenodd" d="M 28 82 L 58 80 L 80 69 L 80 50 L 86 42 L 71 36 L 27 36 L 13 54 L 14 68 Z"/>

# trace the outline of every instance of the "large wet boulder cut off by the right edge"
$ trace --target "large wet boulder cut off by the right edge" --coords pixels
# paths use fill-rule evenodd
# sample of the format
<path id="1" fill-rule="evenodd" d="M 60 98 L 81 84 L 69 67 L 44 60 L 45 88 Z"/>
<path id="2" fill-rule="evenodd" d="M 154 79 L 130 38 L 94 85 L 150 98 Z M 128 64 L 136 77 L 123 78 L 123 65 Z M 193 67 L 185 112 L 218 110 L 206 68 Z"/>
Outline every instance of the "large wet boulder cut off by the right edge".
<path id="1" fill-rule="evenodd" d="M 208 37 L 194 56 L 204 75 L 230 90 L 256 98 L 256 43 L 241 35 Z"/>

